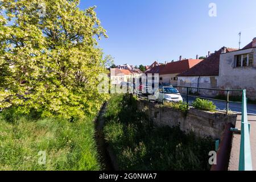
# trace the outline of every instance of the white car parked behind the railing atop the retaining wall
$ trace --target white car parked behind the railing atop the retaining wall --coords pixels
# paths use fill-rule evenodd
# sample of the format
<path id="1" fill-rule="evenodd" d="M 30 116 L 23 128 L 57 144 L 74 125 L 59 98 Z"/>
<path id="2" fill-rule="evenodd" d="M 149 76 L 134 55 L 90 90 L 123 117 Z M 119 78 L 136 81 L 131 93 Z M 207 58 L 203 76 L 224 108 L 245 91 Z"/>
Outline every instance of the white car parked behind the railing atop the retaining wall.
<path id="1" fill-rule="evenodd" d="M 183 102 L 179 91 L 172 86 L 161 86 L 158 90 L 158 101 L 160 102 Z"/>

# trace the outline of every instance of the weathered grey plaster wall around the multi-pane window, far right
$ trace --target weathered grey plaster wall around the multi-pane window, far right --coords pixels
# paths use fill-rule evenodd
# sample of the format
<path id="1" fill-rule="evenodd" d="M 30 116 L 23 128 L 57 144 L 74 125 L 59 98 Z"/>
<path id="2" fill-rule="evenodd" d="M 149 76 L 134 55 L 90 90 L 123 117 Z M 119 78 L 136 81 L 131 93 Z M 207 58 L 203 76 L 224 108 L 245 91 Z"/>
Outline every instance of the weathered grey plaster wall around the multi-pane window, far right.
<path id="1" fill-rule="evenodd" d="M 253 67 L 234 67 L 234 56 L 243 53 L 254 53 Z M 246 89 L 247 97 L 256 99 L 256 48 L 220 55 L 219 86 L 224 89 Z"/>

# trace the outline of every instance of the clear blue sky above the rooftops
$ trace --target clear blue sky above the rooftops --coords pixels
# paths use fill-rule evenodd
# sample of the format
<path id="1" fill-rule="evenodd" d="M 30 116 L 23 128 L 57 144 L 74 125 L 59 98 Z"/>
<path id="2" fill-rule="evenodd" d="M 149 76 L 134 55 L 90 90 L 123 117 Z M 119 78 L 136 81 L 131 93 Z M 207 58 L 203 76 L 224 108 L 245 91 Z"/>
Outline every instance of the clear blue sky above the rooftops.
<path id="1" fill-rule="evenodd" d="M 209 16 L 216 3 L 217 16 Z M 205 56 L 223 46 L 238 48 L 256 37 L 255 0 L 81 0 L 80 8 L 97 6 L 108 32 L 100 40 L 115 64 L 150 65 Z"/>

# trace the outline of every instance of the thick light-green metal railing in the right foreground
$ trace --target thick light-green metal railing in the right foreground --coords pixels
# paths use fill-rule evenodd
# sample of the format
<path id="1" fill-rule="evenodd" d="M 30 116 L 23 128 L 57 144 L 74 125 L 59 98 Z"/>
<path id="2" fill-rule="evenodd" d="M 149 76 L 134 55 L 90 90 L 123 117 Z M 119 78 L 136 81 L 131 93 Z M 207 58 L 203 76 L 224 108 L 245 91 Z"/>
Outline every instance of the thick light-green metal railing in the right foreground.
<path id="1" fill-rule="evenodd" d="M 251 164 L 250 123 L 248 123 L 248 117 L 247 117 L 246 90 L 243 90 L 242 96 L 243 97 L 242 97 L 239 171 L 252 171 L 253 167 Z"/>

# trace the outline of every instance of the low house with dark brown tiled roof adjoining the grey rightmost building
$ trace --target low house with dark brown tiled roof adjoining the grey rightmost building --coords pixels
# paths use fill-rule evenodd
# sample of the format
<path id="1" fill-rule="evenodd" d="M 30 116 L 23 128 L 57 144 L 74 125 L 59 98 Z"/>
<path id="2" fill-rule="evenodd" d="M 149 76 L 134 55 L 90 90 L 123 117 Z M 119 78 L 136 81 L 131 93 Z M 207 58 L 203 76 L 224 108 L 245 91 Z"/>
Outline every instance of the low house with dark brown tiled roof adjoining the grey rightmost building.
<path id="1" fill-rule="evenodd" d="M 236 50 L 237 49 L 226 48 L 226 52 Z M 208 57 L 195 65 L 195 67 L 177 75 L 177 85 L 199 88 L 218 88 L 220 55 L 221 49 L 212 54 L 208 53 Z M 211 90 L 192 89 L 192 92 L 199 92 L 205 96 L 216 95 L 216 92 Z"/>

